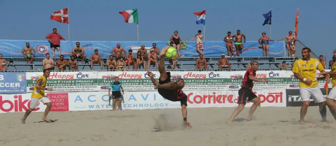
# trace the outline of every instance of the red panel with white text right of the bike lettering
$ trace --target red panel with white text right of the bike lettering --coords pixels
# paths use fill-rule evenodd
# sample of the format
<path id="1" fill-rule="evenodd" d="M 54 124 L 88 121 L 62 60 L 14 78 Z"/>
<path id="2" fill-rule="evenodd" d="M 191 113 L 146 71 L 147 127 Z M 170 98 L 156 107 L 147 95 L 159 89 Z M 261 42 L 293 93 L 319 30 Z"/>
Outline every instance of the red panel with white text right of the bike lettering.
<path id="1" fill-rule="evenodd" d="M 47 93 L 52 107 L 50 111 L 69 111 L 68 93 Z"/>

